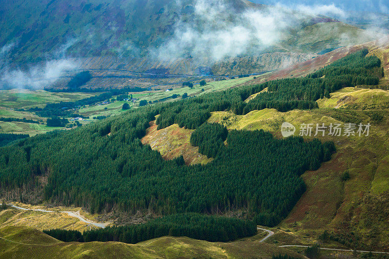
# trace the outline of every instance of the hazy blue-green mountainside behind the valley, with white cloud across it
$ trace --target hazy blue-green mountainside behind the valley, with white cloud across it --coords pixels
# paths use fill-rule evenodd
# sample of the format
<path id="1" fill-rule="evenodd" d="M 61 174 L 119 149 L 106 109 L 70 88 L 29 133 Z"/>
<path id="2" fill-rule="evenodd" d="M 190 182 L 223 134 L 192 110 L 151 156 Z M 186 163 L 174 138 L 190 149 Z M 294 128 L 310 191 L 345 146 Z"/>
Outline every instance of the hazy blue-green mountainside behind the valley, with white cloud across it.
<path id="1" fill-rule="evenodd" d="M 18 66 L 64 56 L 218 60 L 313 53 L 375 37 L 334 19 L 246 0 L 17 0 L 5 1 L 0 14 L 1 53 Z"/>

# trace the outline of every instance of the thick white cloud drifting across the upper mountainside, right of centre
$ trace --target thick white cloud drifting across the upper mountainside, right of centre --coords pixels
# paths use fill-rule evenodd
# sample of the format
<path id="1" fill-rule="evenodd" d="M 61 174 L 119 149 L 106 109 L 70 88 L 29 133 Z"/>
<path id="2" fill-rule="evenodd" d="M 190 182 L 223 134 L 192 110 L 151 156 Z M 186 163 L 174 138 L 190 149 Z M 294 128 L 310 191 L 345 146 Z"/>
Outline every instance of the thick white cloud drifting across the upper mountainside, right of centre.
<path id="1" fill-rule="evenodd" d="M 212 60 L 252 49 L 260 53 L 283 39 L 299 19 L 278 7 L 239 12 L 228 1 L 195 0 L 193 20 L 178 19 L 173 36 L 154 53 L 159 59 L 191 55 Z"/>

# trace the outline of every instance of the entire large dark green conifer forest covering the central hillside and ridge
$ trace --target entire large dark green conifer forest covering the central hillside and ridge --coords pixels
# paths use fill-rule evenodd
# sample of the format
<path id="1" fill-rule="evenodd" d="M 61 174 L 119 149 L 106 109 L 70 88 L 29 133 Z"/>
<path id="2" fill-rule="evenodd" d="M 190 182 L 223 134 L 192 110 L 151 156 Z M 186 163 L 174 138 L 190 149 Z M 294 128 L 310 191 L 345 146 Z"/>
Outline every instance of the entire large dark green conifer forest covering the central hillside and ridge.
<path id="1" fill-rule="evenodd" d="M 305 78 L 150 105 L 76 130 L 21 140 L 0 149 L 2 193 L 25 201 L 37 193 L 51 203 L 74 204 L 90 212 L 246 210 L 257 224 L 278 224 L 305 190 L 300 175 L 330 159 L 334 144 L 276 139 L 262 130 L 227 134 L 220 125 L 202 124 L 212 111 L 246 114 L 262 105 L 280 111 L 315 108 L 318 97 L 339 87 L 374 84 L 381 76 L 380 62 L 366 53 L 356 52 Z M 265 87 L 271 91 L 244 102 Z M 192 143 L 214 160 L 186 166 L 182 157 L 166 161 L 142 145 L 140 138 L 158 114 L 159 128 L 178 123 L 196 129 Z"/>

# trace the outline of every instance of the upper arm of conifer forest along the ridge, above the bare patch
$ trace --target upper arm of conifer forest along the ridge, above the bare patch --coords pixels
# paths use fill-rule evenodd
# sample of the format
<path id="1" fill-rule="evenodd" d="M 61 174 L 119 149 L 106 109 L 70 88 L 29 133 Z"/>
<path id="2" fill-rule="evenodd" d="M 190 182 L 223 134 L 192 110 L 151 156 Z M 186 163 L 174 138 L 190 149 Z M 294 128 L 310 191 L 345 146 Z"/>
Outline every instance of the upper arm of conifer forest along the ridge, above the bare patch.
<path id="1" fill-rule="evenodd" d="M 160 128 L 178 123 L 180 127 L 195 129 L 210 117 L 210 112 L 232 110 L 247 114 L 252 110 L 276 108 L 279 111 L 317 108 L 316 101 L 341 87 L 376 85 L 383 77 L 381 61 L 366 56 L 366 49 L 350 54 L 324 69 L 302 78 L 289 78 L 244 86 L 224 92 L 212 93 L 186 102 L 168 104 L 162 108 L 157 124 Z M 261 92 L 245 103 L 252 94 Z"/>

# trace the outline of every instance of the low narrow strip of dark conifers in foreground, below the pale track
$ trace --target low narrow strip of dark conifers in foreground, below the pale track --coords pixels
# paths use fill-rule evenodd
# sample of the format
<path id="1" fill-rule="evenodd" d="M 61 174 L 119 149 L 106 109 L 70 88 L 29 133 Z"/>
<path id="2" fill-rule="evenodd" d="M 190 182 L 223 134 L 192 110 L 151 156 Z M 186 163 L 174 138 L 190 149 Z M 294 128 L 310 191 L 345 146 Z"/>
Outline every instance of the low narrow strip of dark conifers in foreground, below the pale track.
<path id="1" fill-rule="evenodd" d="M 189 237 L 210 242 L 228 242 L 257 233 L 252 221 L 198 213 L 183 213 L 150 220 L 145 224 L 87 230 L 52 229 L 44 233 L 63 242 L 124 242 L 135 244 L 162 236 Z"/>

